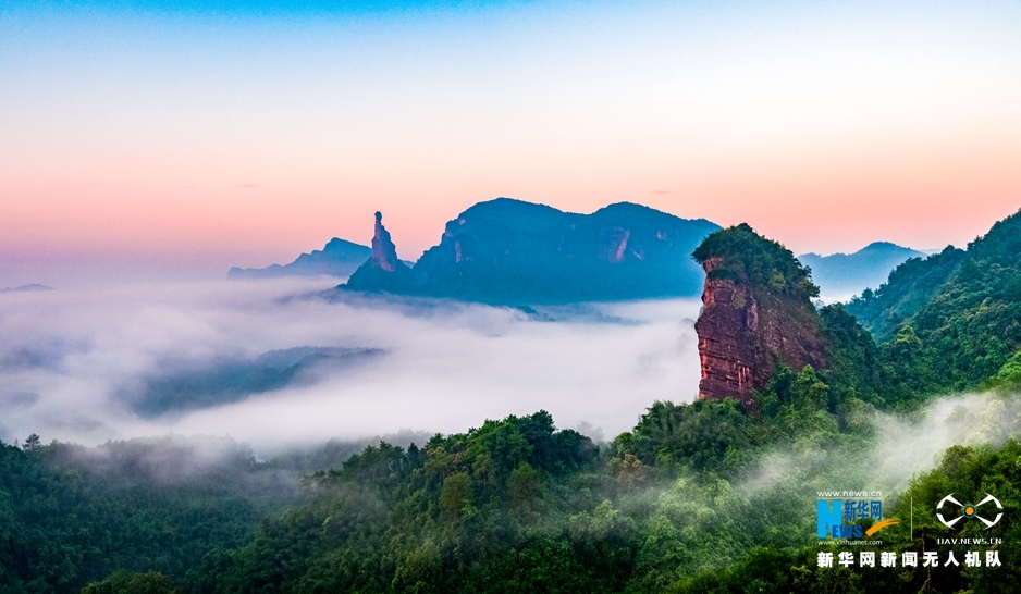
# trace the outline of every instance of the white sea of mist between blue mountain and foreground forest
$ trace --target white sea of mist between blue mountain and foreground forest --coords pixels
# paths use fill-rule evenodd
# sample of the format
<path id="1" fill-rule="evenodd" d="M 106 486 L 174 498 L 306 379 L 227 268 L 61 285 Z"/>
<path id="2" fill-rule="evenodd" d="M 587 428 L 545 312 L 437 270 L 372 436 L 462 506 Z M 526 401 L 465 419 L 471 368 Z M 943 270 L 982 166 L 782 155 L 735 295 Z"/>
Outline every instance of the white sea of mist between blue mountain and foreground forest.
<path id="1" fill-rule="evenodd" d="M 257 451 L 550 411 L 612 438 L 690 401 L 700 302 L 505 308 L 334 280 L 0 296 L 0 438 L 229 435 Z"/>

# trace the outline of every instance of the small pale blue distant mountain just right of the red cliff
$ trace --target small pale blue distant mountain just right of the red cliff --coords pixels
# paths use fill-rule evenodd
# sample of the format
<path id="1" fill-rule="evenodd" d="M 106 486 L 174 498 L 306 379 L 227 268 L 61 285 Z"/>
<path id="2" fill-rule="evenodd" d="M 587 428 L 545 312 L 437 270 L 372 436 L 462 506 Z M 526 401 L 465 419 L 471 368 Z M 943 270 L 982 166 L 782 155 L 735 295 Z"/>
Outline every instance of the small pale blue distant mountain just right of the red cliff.
<path id="1" fill-rule="evenodd" d="M 865 288 L 878 287 L 890 271 L 910 258 L 925 253 L 889 242 L 869 244 L 853 253 L 820 256 L 804 253 L 798 260 L 812 269 L 812 281 L 825 295 L 858 295 Z"/>

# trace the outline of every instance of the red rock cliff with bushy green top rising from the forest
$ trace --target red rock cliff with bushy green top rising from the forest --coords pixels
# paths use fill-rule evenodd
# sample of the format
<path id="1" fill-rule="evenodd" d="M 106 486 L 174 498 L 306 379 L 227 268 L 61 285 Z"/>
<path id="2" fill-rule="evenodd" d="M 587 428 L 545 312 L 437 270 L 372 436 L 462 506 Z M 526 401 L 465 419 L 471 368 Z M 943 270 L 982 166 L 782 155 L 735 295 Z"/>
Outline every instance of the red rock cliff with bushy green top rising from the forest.
<path id="1" fill-rule="evenodd" d="M 699 335 L 699 398 L 736 397 L 754 409 L 779 364 L 829 367 L 811 302 L 817 288 L 794 255 L 739 225 L 710 235 L 694 257 L 705 270 Z"/>

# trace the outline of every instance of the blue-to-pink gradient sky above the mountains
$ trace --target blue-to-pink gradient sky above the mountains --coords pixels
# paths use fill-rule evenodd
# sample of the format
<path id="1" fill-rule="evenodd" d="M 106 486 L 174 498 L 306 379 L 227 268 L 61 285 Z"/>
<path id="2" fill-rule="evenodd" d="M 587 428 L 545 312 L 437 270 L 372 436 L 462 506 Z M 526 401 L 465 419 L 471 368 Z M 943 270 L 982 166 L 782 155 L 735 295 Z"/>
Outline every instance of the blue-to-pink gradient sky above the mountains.
<path id="1" fill-rule="evenodd" d="M 220 277 L 376 210 L 415 259 L 497 196 L 963 245 L 1021 208 L 1018 32 L 1017 0 L 0 0 L 0 286 Z"/>

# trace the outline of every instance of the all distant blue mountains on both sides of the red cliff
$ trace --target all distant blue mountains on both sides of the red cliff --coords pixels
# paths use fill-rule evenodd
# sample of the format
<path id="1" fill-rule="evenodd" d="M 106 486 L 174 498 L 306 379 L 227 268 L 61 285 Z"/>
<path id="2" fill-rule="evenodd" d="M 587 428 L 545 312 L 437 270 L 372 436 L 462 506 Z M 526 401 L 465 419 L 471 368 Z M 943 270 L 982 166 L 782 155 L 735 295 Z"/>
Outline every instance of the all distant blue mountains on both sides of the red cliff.
<path id="1" fill-rule="evenodd" d="M 479 202 L 450 221 L 418 262 L 399 260 L 379 215 L 372 247 L 334 237 L 290 264 L 237 268 L 229 279 L 331 275 L 345 288 L 493 304 L 693 297 L 704 274 L 691 252 L 719 230 L 649 207 L 619 202 L 591 214 L 510 198 Z M 925 253 L 876 242 L 853 253 L 798 259 L 826 296 L 877 287 Z"/>

